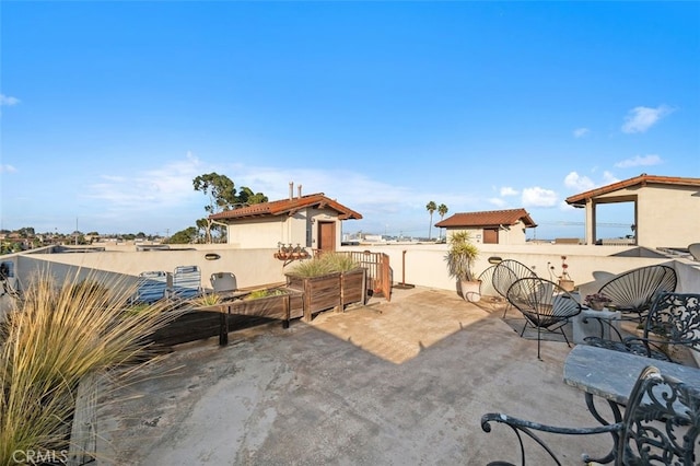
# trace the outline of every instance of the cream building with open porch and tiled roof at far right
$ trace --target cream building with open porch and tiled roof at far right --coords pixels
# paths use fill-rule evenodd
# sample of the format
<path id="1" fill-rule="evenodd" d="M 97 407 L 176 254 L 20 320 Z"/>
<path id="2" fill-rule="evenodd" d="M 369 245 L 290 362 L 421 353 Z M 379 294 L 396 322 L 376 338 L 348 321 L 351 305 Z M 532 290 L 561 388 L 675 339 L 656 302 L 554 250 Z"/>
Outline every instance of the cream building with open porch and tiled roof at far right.
<path id="1" fill-rule="evenodd" d="M 586 244 L 602 242 L 596 234 L 596 208 L 603 203 L 634 203 L 634 232 L 638 246 L 688 247 L 700 240 L 700 178 L 640 176 L 567 198 L 573 207 L 586 210 Z"/>

